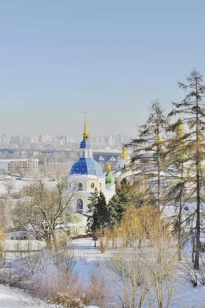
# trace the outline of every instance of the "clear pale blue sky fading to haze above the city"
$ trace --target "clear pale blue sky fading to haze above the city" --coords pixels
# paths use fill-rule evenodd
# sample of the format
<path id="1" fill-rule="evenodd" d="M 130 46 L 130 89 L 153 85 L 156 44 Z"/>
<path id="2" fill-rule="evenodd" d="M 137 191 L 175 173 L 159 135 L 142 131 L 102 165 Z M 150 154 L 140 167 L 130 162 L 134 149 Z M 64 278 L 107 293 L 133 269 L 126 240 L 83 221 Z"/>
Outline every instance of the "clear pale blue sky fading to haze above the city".
<path id="1" fill-rule="evenodd" d="M 0 0 L 0 133 L 136 133 L 205 73 L 204 30 L 204 0 Z"/>

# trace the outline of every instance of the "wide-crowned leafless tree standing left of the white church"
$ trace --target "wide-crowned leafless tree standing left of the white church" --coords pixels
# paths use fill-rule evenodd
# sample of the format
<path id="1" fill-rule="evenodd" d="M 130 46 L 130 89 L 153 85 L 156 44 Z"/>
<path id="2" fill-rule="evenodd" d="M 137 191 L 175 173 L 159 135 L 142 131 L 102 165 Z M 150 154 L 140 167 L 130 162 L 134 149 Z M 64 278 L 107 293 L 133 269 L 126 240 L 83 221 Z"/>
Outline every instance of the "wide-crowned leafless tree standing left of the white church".
<path id="1" fill-rule="evenodd" d="M 52 237 L 56 251 L 58 251 L 57 229 L 64 228 L 68 222 L 70 205 L 74 199 L 73 190 L 65 194 L 66 188 L 65 176 L 56 178 L 52 188 L 47 186 L 43 178 L 36 178 L 24 189 L 24 199 L 19 203 L 21 211 L 24 211 L 25 206 L 28 208 L 27 224 L 24 223 L 24 227 L 37 238 L 44 238 L 47 248 L 51 247 Z"/>

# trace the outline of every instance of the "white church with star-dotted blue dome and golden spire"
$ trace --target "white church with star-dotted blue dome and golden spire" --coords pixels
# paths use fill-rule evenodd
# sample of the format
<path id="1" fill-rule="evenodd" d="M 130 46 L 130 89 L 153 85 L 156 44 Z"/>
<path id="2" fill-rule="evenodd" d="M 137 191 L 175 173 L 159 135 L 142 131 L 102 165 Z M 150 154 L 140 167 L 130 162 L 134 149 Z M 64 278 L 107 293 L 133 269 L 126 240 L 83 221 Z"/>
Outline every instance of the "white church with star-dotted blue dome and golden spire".
<path id="1" fill-rule="evenodd" d="M 110 165 L 107 166 L 107 174 L 104 175 L 103 169 L 93 159 L 92 144 L 89 140 L 87 122 L 85 117 L 83 140 L 80 142 L 79 159 L 70 170 L 68 176 L 68 190 L 74 190 L 75 200 L 72 202 L 72 211 L 86 214 L 88 210 L 88 199 L 91 192 L 95 189 L 102 191 L 107 202 L 115 194 L 115 178 L 111 174 Z"/>

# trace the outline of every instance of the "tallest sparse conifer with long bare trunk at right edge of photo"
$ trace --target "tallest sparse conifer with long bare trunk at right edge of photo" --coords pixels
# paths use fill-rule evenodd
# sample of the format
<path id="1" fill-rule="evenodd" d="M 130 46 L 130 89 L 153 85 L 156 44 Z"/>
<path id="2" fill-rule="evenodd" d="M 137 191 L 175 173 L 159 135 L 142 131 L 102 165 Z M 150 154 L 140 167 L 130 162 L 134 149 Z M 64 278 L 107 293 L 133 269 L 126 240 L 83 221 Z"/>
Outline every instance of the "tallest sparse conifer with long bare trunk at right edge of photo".
<path id="1" fill-rule="evenodd" d="M 193 69 L 186 78 L 187 84 L 178 82 L 179 88 L 188 91 L 185 99 L 181 103 L 173 103 L 174 109 L 170 115 L 182 113 L 184 121 L 187 123 L 189 131 L 181 138 L 181 142 L 187 142 L 186 151 L 189 153 L 190 169 L 192 171 L 192 192 L 196 196 L 196 253 L 194 266 L 199 268 L 200 250 L 200 206 L 203 201 L 201 187 L 203 184 L 203 144 L 204 140 L 204 116 L 205 116 L 205 86 L 202 84 L 203 75 Z"/>

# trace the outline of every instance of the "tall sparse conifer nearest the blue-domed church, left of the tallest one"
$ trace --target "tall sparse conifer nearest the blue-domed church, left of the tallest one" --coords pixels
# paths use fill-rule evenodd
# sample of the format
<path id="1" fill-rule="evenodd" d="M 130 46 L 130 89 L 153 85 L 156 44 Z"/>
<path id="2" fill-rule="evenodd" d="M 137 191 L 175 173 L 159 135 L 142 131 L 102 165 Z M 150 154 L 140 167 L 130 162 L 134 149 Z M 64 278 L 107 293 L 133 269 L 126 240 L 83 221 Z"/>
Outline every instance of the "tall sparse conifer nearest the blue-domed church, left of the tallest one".
<path id="1" fill-rule="evenodd" d="M 147 179 L 145 195 L 155 203 L 158 212 L 162 205 L 161 172 L 165 171 L 163 137 L 167 124 L 165 110 L 157 100 L 152 101 L 147 122 L 139 127 L 138 138 L 129 144 L 134 153 L 132 167 L 139 178 Z"/>

